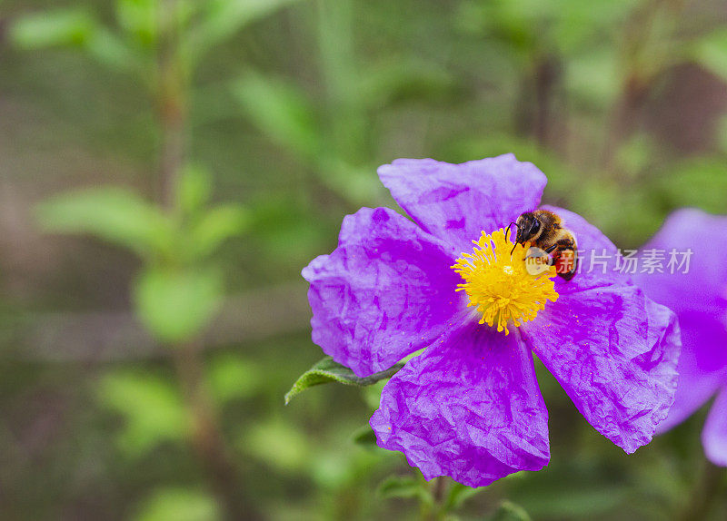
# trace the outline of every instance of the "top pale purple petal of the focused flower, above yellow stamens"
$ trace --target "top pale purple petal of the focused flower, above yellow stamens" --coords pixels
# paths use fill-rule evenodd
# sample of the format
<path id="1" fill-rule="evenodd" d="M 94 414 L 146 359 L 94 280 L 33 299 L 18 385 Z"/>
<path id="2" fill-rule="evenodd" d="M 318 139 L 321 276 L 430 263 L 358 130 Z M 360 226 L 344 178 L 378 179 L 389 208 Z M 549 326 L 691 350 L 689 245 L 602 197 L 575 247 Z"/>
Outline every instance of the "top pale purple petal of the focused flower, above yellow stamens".
<path id="1" fill-rule="evenodd" d="M 471 241 L 515 221 L 540 202 L 546 179 L 533 163 L 510 153 L 452 164 L 433 159 L 397 159 L 379 167 L 393 198 L 418 222 L 459 251 Z"/>

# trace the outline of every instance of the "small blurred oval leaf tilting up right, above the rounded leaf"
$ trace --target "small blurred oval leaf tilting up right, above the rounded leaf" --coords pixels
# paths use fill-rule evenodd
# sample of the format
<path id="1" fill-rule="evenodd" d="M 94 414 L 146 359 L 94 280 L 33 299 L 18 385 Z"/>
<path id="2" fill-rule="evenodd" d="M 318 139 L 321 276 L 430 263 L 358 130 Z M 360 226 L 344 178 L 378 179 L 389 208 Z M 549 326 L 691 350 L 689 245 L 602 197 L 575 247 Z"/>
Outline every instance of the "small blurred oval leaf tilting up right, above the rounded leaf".
<path id="1" fill-rule="evenodd" d="M 190 255 L 204 258 L 224 241 L 247 230 L 248 213 L 238 204 L 225 204 L 207 211 L 190 230 Z"/>

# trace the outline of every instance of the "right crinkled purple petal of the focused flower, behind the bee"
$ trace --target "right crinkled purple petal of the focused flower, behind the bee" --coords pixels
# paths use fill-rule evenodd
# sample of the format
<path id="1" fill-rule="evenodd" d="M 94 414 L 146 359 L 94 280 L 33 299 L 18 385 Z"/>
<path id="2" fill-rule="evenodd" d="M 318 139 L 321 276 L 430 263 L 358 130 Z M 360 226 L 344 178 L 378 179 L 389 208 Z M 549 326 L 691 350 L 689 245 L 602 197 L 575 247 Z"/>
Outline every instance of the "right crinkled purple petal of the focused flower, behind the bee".
<path id="1" fill-rule="evenodd" d="M 575 233 L 582 261 L 615 251 L 582 217 L 553 211 Z M 589 268 L 556 284 L 559 299 L 523 325 L 523 338 L 593 428 L 632 453 L 651 441 L 672 405 L 679 328 L 671 310 L 646 299 L 612 264 L 605 273 Z"/>

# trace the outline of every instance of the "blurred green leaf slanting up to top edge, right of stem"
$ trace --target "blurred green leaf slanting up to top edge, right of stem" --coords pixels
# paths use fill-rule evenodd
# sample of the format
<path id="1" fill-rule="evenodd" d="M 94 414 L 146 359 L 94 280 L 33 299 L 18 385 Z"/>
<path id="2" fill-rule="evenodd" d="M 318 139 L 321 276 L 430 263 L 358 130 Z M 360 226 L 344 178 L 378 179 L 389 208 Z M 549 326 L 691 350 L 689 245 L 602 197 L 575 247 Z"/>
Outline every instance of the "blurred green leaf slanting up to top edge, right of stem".
<path id="1" fill-rule="evenodd" d="M 207 0 L 202 21 L 188 35 L 189 53 L 198 59 L 245 25 L 297 0 Z"/>

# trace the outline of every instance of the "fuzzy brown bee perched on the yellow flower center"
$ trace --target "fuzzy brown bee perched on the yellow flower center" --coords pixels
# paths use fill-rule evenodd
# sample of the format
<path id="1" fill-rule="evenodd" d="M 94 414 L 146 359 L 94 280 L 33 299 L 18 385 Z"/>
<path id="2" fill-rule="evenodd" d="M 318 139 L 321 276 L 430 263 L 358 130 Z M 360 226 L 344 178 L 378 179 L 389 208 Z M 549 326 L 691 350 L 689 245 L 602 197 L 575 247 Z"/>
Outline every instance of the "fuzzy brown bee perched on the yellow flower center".
<path id="1" fill-rule="evenodd" d="M 526 211 L 517 218 L 515 242 L 540 248 L 553 259 L 555 270 L 564 280 L 575 276 L 578 245 L 573 232 L 563 227 L 563 219 L 553 211 Z M 508 227 L 508 231 L 509 231 Z"/>

